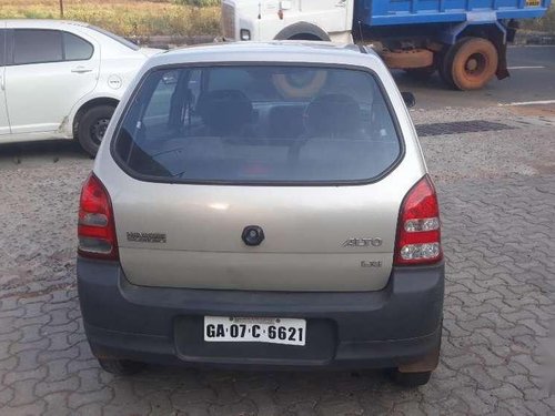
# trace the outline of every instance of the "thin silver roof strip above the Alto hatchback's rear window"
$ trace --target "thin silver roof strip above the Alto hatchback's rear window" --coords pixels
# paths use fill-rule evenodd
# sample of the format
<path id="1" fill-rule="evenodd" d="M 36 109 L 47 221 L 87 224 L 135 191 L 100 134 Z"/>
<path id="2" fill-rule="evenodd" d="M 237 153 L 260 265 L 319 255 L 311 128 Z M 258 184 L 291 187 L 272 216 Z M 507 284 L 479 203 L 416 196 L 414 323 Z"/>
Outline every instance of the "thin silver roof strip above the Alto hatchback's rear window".
<path id="1" fill-rule="evenodd" d="M 222 42 L 174 49 L 151 58 L 148 67 L 190 62 L 303 62 L 364 67 L 374 62 L 376 65 L 383 65 L 371 48 L 316 41 L 272 41 Z"/>

